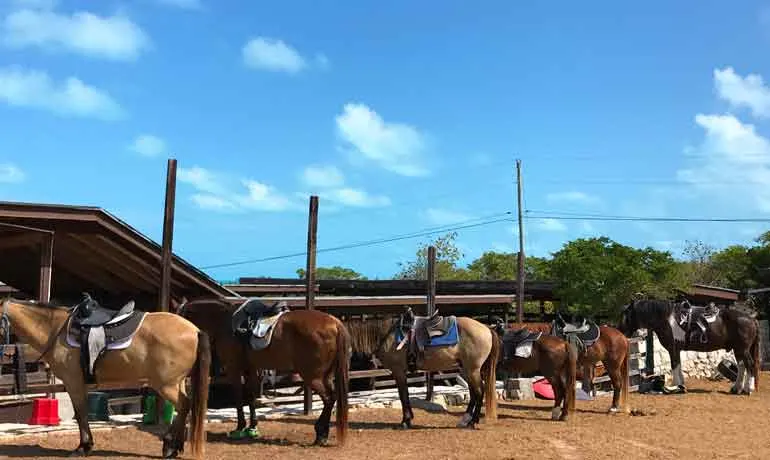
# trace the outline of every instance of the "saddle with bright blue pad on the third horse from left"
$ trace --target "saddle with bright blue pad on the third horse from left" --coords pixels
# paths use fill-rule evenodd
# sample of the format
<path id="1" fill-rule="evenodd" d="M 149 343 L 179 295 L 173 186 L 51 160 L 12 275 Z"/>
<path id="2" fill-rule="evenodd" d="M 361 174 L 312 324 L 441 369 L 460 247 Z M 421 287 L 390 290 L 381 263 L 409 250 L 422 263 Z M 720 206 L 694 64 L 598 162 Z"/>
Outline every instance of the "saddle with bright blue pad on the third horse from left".
<path id="1" fill-rule="evenodd" d="M 401 315 L 396 331 L 397 350 L 407 348 L 410 372 L 417 369 L 417 359 L 426 347 L 453 346 L 458 342 L 457 317 L 441 316 L 438 310 L 430 316 L 415 316 L 411 308 Z"/>

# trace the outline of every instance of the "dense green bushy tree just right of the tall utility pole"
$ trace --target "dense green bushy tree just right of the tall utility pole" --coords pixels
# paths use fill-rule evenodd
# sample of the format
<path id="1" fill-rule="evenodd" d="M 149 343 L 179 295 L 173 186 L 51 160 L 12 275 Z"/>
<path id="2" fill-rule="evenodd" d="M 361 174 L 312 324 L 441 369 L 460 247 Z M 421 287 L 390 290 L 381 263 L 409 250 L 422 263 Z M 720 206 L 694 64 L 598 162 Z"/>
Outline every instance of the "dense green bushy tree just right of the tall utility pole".
<path id="1" fill-rule="evenodd" d="M 686 284 L 669 252 L 636 249 L 607 237 L 570 241 L 550 265 L 557 295 L 582 314 L 614 316 L 637 292 L 667 297 Z"/>

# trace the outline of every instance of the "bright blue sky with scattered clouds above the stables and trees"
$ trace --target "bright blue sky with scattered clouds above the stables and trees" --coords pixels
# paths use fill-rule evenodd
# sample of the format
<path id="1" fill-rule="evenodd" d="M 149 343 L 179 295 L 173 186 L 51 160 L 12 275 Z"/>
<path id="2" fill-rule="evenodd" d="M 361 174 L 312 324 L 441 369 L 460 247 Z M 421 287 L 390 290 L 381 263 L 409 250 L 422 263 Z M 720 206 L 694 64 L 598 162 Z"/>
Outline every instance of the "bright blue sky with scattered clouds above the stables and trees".
<path id="1" fill-rule="evenodd" d="M 0 199 L 96 205 L 207 267 L 515 212 L 770 216 L 770 3 L 4 0 Z M 538 213 L 540 211 L 541 213 Z M 566 215 L 566 214 L 565 214 Z M 528 219 L 670 249 L 756 223 Z M 422 239 L 321 253 L 386 278 Z M 513 222 L 461 230 L 472 260 Z M 294 276 L 304 258 L 207 270 Z"/>

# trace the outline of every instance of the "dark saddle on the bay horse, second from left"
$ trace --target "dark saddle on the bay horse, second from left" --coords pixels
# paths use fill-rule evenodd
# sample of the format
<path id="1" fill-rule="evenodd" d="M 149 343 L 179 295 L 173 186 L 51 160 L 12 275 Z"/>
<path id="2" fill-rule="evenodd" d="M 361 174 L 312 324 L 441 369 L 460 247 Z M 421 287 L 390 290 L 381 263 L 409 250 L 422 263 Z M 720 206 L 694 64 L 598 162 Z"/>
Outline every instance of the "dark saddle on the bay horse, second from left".
<path id="1" fill-rule="evenodd" d="M 270 345 L 278 319 L 288 311 L 283 301 L 268 306 L 260 299 L 249 299 L 233 312 L 233 335 L 248 342 L 252 349 L 263 350 Z"/>

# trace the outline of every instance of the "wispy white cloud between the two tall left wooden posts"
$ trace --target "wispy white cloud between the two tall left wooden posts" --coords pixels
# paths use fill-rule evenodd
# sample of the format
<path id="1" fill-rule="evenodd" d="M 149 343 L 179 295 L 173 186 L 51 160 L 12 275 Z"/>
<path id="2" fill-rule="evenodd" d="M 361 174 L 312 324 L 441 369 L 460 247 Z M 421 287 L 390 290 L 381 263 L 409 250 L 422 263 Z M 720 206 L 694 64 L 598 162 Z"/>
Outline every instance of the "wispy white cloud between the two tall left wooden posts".
<path id="1" fill-rule="evenodd" d="M 285 211 L 296 204 L 274 187 L 253 179 L 234 181 L 199 166 L 179 168 L 177 178 L 196 190 L 192 201 L 202 209 L 214 211 Z M 233 190 L 232 183 L 240 184 Z"/>

